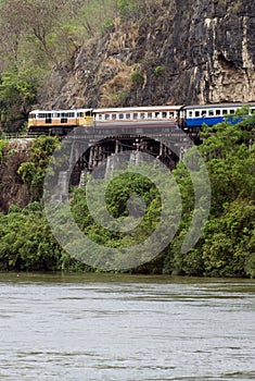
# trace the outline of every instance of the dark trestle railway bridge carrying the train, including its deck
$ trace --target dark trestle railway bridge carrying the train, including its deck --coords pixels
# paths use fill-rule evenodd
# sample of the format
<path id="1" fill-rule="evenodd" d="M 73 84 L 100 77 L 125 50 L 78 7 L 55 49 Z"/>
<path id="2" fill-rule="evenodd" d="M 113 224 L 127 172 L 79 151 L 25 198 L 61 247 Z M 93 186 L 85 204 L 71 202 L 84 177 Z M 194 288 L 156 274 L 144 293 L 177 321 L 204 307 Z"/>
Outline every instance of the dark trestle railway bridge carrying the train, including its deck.
<path id="1" fill-rule="evenodd" d="M 7 139 L 25 140 L 35 137 L 38 135 L 5 135 Z M 95 168 L 97 176 L 109 176 L 122 152 L 130 153 L 130 160 L 131 157 L 139 157 L 133 156 L 136 152 L 149 153 L 173 170 L 192 145 L 191 138 L 169 121 L 97 123 L 74 128 L 62 138 L 63 143 L 67 147 L 69 159 L 66 168 L 59 174 L 62 198 L 68 195 L 67 179 L 69 185 L 81 186 L 86 175 Z"/>

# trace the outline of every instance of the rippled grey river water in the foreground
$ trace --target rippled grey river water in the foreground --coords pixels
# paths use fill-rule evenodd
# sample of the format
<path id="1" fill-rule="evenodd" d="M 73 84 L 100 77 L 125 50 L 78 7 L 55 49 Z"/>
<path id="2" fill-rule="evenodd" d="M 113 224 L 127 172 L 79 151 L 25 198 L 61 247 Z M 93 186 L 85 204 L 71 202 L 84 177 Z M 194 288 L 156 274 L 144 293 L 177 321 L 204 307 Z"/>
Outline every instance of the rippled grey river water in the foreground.
<path id="1" fill-rule="evenodd" d="M 255 380 L 255 282 L 0 274 L 0 380 Z"/>

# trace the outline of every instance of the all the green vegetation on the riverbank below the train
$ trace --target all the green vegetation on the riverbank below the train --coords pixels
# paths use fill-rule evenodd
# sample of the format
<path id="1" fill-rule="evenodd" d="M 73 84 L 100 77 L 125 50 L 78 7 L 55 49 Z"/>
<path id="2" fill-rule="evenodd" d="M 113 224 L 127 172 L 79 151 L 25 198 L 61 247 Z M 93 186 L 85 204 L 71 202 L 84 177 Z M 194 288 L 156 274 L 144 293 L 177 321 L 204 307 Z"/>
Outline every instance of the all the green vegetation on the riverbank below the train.
<path id="1" fill-rule="evenodd" d="M 189 171 L 179 163 L 173 172 L 182 198 L 178 232 L 157 258 L 132 271 L 255 276 L 254 120 L 204 127 L 203 134 L 206 139 L 199 149 L 206 161 L 213 197 L 211 214 L 199 243 L 189 253 L 181 254 L 180 247 L 192 218 L 194 195 Z M 18 170 L 24 182 L 36 184 L 39 189 L 46 163 L 55 146 L 51 137 L 35 143 L 33 160 Z M 31 165 L 33 162 L 37 165 Z M 59 246 L 43 216 L 41 194 L 35 193 L 34 187 L 30 189 L 31 204 L 25 209 L 12 206 L 8 214 L 0 216 L 0 269 L 91 270 Z M 132 245 L 156 228 L 162 208 L 158 192 L 145 177 L 122 175 L 114 180 L 106 194 L 107 208 L 114 218 L 128 214 L 127 199 L 133 193 L 144 198 L 146 212 L 132 237 L 100 228 L 89 213 L 82 188 L 73 192 L 73 216 L 90 239 L 110 247 Z M 60 218 L 63 222 L 63 216 Z"/>

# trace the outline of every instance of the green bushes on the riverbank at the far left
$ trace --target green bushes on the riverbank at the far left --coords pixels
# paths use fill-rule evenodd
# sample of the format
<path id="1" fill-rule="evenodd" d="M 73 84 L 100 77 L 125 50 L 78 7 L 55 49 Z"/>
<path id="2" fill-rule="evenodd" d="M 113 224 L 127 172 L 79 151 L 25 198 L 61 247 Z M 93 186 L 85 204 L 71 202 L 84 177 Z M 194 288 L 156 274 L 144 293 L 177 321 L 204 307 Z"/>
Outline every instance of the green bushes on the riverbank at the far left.
<path id="1" fill-rule="evenodd" d="M 0 214 L 0 271 L 90 271 L 55 242 L 39 204 Z"/>

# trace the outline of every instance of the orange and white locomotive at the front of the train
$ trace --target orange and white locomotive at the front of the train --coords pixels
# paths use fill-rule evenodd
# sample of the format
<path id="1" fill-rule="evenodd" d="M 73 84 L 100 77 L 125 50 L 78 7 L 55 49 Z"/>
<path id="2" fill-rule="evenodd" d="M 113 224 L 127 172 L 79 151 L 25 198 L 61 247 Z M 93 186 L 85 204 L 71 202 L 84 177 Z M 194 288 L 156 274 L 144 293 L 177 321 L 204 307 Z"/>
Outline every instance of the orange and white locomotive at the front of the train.
<path id="1" fill-rule="evenodd" d="M 77 126 L 92 126 L 92 109 L 34 110 L 28 115 L 28 134 L 66 135 Z"/>

